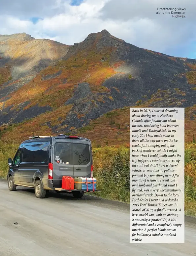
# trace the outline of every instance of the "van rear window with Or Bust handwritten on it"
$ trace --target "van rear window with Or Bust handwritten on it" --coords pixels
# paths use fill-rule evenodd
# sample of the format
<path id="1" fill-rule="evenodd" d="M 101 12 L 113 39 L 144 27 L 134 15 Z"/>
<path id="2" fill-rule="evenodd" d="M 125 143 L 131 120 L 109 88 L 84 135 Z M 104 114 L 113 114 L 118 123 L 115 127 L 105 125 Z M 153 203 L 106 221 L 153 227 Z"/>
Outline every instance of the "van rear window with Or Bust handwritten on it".
<path id="1" fill-rule="evenodd" d="M 74 164 L 86 165 L 90 162 L 90 147 L 86 144 L 73 144 L 74 147 Z"/>

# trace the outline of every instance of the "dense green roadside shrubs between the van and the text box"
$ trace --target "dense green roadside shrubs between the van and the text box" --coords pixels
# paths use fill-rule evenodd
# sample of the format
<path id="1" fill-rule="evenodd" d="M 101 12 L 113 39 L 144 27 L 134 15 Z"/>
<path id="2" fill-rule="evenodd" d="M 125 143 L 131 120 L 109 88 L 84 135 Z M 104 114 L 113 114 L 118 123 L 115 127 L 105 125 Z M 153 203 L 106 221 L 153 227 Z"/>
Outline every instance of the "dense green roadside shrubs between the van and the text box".
<path id="1" fill-rule="evenodd" d="M 93 176 L 97 196 L 129 203 L 129 149 L 104 147 L 93 150 Z"/>

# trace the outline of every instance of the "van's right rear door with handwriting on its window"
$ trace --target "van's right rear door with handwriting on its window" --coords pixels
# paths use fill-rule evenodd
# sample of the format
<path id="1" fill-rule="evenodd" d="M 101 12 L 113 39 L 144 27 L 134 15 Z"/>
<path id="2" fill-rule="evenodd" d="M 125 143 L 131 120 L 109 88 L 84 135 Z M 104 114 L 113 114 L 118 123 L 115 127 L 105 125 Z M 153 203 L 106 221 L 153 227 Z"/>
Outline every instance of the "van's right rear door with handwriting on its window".
<path id="1" fill-rule="evenodd" d="M 74 177 L 91 177 L 92 153 L 88 140 L 73 140 Z"/>

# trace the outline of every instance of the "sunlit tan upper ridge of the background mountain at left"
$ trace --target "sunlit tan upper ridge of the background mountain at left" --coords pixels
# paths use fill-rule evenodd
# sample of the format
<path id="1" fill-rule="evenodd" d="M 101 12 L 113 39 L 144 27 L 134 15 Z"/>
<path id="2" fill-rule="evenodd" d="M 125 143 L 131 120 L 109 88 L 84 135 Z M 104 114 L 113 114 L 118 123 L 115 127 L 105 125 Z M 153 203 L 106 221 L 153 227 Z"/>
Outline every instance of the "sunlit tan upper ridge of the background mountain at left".
<path id="1" fill-rule="evenodd" d="M 26 33 L 0 35 L 0 67 L 10 66 L 12 81 L 36 75 L 52 61 L 66 55 L 69 46 Z"/>

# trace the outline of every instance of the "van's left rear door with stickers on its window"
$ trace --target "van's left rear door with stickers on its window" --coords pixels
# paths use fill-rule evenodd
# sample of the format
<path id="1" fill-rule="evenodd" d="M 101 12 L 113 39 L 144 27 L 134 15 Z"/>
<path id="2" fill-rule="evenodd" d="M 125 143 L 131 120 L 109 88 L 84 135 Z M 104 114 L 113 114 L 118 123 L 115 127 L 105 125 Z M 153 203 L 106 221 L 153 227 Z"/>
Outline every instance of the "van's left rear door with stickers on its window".
<path id="1" fill-rule="evenodd" d="M 54 138 L 53 141 L 53 187 L 61 188 L 63 176 L 74 176 L 73 139 Z"/>

